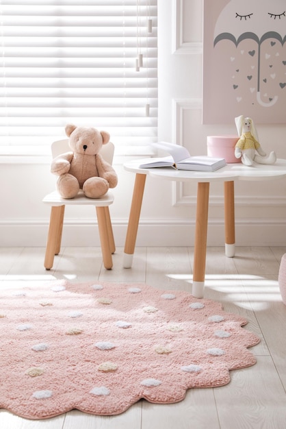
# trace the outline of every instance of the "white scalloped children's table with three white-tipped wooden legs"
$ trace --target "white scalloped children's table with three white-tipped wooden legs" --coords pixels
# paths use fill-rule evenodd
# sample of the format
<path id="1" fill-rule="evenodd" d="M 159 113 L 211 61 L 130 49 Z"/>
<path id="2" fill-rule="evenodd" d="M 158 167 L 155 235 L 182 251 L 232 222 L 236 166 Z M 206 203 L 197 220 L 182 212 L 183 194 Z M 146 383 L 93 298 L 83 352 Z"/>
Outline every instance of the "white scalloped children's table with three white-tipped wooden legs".
<path id="1" fill-rule="evenodd" d="M 142 169 L 139 167 L 142 160 L 127 162 L 125 170 L 135 173 L 133 197 L 129 215 L 127 235 L 125 239 L 125 255 L 123 266 L 130 268 L 133 262 L 142 199 L 146 176 L 158 179 L 179 182 L 197 183 L 196 204 L 196 232 L 194 241 L 194 270 L 192 295 L 203 298 L 205 289 L 205 261 L 207 254 L 207 222 L 209 209 L 209 184 L 224 182 L 224 223 L 226 256 L 235 255 L 235 208 L 234 182 L 235 180 L 273 180 L 286 176 L 286 160 L 278 159 L 275 164 L 255 164 L 246 167 L 241 162 L 227 164 L 222 169 L 211 173 L 206 171 L 176 170 L 172 167 Z"/>

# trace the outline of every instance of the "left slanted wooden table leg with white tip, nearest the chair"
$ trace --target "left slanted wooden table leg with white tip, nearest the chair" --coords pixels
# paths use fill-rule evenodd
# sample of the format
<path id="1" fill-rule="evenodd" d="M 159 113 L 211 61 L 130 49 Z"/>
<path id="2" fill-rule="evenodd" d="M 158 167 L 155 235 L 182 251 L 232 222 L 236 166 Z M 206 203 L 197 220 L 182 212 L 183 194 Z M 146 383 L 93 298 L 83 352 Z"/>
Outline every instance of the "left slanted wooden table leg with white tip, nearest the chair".
<path id="1" fill-rule="evenodd" d="M 125 239 L 123 267 L 131 268 L 135 249 L 142 199 L 146 182 L 146 174 L 136 173 L 129 214 L 129 222 Z"/>

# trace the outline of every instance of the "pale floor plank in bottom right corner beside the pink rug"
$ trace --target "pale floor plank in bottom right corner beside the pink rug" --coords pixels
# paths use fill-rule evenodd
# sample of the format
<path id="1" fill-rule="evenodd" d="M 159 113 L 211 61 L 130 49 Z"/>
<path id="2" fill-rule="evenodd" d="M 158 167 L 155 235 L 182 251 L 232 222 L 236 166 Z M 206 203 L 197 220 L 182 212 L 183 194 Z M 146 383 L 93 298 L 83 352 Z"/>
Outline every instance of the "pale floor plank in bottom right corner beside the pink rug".
<path id="1" fill-rule="evenodd" d="M 232 371 L 231 383 L 214 389 L 221 429 L 284 429 L 286 396 L 270 356 Z"/>

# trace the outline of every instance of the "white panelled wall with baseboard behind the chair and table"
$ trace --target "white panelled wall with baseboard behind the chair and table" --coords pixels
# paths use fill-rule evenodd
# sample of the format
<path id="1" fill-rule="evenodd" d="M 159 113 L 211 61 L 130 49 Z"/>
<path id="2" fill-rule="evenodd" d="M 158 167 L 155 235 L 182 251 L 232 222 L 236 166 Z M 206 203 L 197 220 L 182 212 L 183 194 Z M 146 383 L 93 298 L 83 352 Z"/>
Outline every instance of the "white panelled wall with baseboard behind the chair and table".
<path id="1" fill-rule="evenodd" d="M 193 154 L 206 153 L 211 134 L 233 134 L 229 126 L 201 125 L 202 0 L 158 0 L 159 13 L 159 140 L 183 144 Z M 265 151 L 286 158 L 286 126 L 260 125 Z M 116 144 L 116 142 L 114 142 Z M 116 157 L 119 184 L 111 206 L 116 245 L 125 242 L 134 177 L 122 167 L 130 157 Z M 1 246 L 44 246 L 49 208 L 42 197 L 55 186 L 49 158 L 25 163 L 0 157 Z M 285 245 L 286 180 L 235 184 L 238 245 Z M 137 245 L 193 245 L 196 186 L 148 177 Z M 63 245 L 99 245 L 93 208 L 69 208 Z M 222 184 L 211 185 L 209 245 L 224 245 Z"/>

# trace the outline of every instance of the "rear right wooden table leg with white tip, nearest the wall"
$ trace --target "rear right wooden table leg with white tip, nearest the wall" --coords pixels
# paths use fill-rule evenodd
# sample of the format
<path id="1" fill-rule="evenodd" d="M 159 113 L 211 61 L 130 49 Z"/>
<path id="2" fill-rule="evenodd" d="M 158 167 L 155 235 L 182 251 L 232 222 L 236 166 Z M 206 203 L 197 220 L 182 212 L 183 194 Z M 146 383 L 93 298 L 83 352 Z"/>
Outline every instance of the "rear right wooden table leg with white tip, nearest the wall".
<path id="1" fill-rule="evenodd" d="M 224 182 L 225 254 L 235 256 L 235 191 L 234 182 Z"/>

